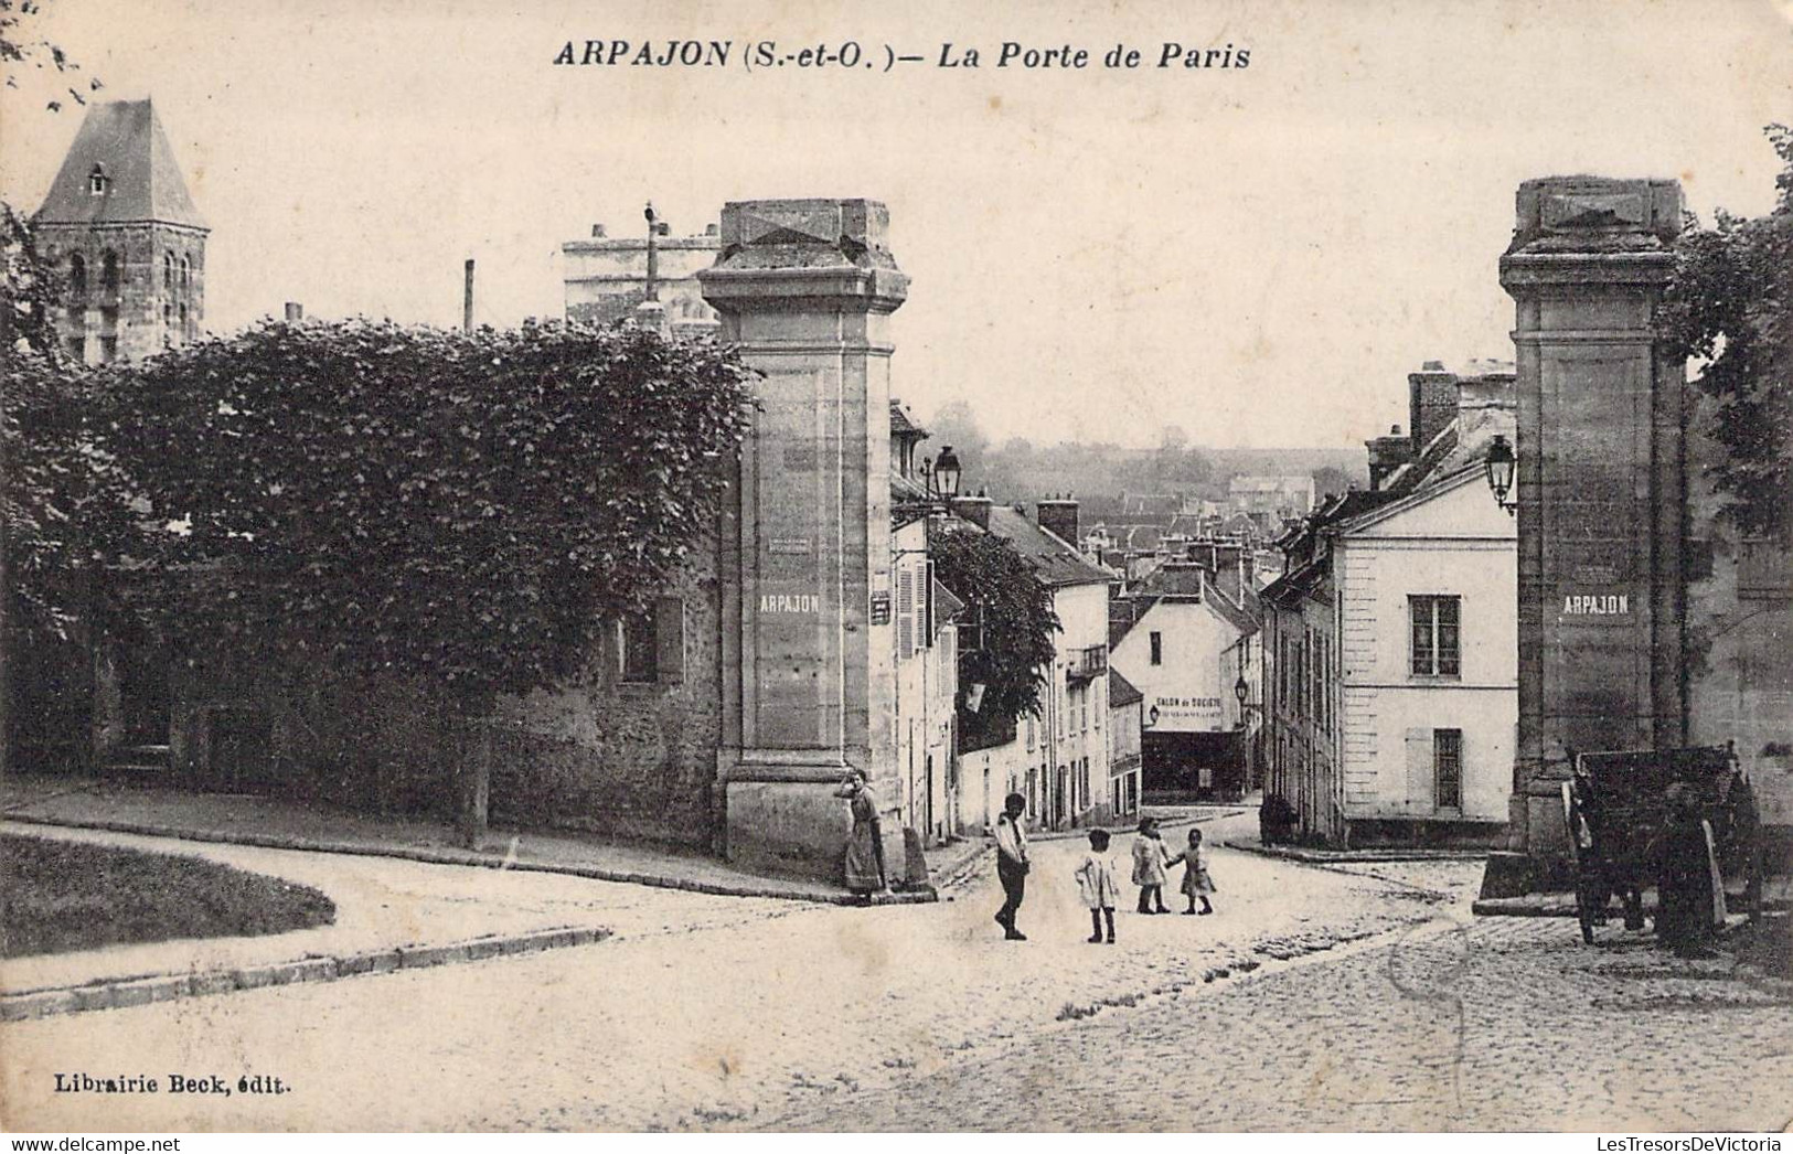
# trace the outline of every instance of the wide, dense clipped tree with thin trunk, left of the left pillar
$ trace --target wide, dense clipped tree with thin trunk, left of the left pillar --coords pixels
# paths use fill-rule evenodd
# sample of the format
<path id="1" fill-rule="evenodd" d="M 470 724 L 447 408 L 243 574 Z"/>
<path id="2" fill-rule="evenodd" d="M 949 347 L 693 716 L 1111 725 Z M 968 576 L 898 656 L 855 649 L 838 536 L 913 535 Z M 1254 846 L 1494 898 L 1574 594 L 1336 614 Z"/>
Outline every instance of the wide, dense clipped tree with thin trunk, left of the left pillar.
<path id="1" fill-rule="evenodd" d="M 751 376 L 644 328 L 265 323 L 122 371 L 102 446 L 181 529 L 170 642 L 484 719 L 577 677 L 714 532 Z M 473 842 L 488 760 L 463 767 Z"/>

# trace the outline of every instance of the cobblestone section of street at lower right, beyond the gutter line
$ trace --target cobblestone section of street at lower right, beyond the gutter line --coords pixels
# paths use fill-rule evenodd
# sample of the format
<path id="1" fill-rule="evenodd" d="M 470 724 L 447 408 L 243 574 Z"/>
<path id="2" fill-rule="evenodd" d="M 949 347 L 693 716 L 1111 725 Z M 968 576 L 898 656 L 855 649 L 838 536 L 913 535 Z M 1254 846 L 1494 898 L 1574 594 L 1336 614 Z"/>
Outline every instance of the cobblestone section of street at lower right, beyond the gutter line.
<path id="1" fill-rule="evenodd" d="M 766 1127 L 1780 1131 L 1789 1086 L 1784 998 L 1513 917 L 1115 1009 Z"/>

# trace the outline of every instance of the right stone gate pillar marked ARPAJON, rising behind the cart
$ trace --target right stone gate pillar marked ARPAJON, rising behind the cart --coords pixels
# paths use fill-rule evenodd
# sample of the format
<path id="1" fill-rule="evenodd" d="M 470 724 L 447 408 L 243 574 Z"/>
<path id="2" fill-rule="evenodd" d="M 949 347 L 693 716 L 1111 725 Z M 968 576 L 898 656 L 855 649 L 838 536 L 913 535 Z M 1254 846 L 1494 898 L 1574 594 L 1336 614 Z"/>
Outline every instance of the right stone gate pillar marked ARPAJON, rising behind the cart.
<path id="1" fill-rule="evenodd" d="M 1490 898 L 1563 882 L 1567 751 L 1687 738 L 1685 366 L 1651 328 L 1680 185 L 1526 181 L 1517 215 L 1519 762 Z"/>

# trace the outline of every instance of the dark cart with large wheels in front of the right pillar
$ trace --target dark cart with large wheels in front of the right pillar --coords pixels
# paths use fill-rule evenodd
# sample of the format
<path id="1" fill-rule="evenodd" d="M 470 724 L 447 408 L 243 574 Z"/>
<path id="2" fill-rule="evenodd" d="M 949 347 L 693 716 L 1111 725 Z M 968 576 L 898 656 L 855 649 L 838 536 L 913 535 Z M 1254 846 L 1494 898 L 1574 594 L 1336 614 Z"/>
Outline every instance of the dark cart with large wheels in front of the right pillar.
<path id="1" fill-rule="evenodd" d="M 1583 941 L 1614 898 L 1642 930 L 1646 889 L 1659 891 L 1662 939 L 1723 923 L 1727 876 L 1759 900 L 1755 806 L 1728 747 L 1583 753 L 1562 796 Z"/>

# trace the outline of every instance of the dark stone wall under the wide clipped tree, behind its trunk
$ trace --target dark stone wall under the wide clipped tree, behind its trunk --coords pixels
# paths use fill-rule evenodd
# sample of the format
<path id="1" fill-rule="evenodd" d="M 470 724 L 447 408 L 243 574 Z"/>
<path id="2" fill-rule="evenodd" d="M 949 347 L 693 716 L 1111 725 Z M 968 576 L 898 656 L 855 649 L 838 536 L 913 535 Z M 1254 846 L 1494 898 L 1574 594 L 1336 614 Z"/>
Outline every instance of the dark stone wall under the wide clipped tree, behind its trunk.
<path id="1" fill-rule="evenodd" d="M 654 602 L 653 679 L 642 663 L 626 668 L 626 631 L 610 622 L 576 681 L 500 697 L 489 720 L 418 681 L 188 652 L 174 663 L 172 763 L 206 788 L 452 821 L 455 774 L 484 733 L 493 824 L 708 849 L 721 821 L 719 615 L 703 543 Z"/>

